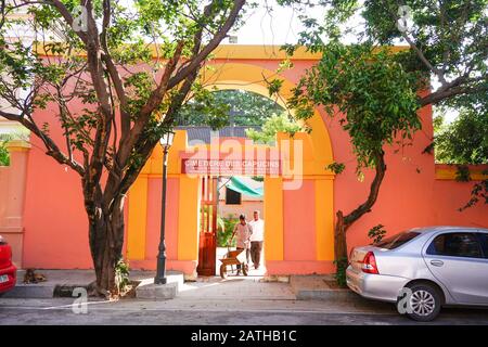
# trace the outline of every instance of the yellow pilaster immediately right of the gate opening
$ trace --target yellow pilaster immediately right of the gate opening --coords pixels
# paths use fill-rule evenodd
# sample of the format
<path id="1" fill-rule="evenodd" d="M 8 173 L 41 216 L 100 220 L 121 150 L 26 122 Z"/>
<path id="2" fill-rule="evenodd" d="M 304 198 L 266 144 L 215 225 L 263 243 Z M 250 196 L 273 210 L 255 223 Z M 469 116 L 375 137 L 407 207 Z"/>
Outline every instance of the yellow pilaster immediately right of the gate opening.
<path id="1" fill-rule="evenodd" d="M 283 260 L 283 179 L 265 177 L 265 259 Z"/>

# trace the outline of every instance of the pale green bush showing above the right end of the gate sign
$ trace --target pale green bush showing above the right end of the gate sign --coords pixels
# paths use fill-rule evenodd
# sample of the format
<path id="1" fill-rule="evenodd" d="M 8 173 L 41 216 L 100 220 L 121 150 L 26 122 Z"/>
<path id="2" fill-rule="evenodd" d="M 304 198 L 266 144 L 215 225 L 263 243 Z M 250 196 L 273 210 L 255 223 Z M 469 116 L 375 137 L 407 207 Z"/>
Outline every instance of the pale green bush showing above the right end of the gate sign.
<path id="1" fill-rule="evenodd" d="M 277 139 L 278 132 L 286 132 L 291 136 L 304 128 L 294 119 L 291 119 L 287 113 L 274 114 L 262 125 L 261 130 L 246 129 L 246 136 L 257 143 L 272 144 Z"/>

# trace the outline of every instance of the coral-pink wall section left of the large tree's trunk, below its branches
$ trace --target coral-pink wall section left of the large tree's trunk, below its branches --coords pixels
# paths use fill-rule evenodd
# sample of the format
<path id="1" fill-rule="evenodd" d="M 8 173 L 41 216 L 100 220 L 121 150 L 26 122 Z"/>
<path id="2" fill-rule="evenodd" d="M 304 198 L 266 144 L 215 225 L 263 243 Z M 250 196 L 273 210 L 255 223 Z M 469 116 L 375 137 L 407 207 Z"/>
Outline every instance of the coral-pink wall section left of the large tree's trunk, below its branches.
<path id="1" fill-rule="evenodd" d="M 24 211 L 24 268 L 91 268 L 81 182 L 33 138 Z"/>

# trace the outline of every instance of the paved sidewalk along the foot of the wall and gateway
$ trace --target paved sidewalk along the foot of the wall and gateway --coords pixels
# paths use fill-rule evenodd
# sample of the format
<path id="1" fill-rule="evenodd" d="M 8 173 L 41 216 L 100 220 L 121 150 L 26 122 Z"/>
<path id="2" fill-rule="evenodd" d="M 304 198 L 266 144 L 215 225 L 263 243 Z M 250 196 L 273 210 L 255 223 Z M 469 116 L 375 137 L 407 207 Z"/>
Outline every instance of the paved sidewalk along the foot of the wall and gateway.
<path id="1" fill-rule="evenodd" d="M 11 298 L 52 298 L 56 286 L 86 286 L 95 280 L 92 270 L 36 270 L 46 275 L 46 282 L 24 284 L 24 271 L 17 273 L 17 286 L 5 294 Z M 145 280 L 152 282 L 154 271 L 130 271 L 134 281 Z M 180 275 L 169 271 L 168 275 Z M 226 280 L 219 277 L 201 277 L 196 282 L 184 282 L 179 285 L 177 297 L 209 299 L 209 300 L 295 300 L 322 299 L 326 301 L 355 301 L 362 300 L 348 290 L 332 290 L 326 281 L 331 277 L 297 275 L 291 277 L 290 283 L 265 282 L 262 272 L 251 270 L 249 275 L 229 275 Z"/>

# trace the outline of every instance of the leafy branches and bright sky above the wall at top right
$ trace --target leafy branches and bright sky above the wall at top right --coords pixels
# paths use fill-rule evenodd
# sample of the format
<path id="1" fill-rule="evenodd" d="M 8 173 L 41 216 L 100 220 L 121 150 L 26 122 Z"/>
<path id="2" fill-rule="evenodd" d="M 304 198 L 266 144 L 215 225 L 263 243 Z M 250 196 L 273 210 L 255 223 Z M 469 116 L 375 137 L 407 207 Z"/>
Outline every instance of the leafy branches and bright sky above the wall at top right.
<path id="1" fill-rule="evenodd" d="M 294 5 L 303 22 L 299 43 L 323 51 L 333 42 L 410 46 L 395 54 L 403 69 L 416 77 L 418 88 L 436 98 L 423 104 L 470 106 L 488 98 L 488 2 L 486 0 L 279 0 Z M 310 8 L 324 11 L 323 21 Z M 408 7 L 408 13 L 400 11 Z M 362 17 L 362 18 L 361 18 Z M 363 21 L 361 21 L 363 20 Z M 404 24 L 403 30 L 398 24 Z M 360 25 L 358 25 L 358 22 Z M 362 22 L 362 23 L 361 23 Z M 293 46 L 286 51 L 293 52 Z M 437 78 L 438 87 L 429 83 Z"/>

